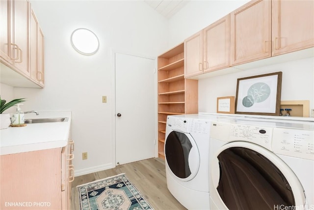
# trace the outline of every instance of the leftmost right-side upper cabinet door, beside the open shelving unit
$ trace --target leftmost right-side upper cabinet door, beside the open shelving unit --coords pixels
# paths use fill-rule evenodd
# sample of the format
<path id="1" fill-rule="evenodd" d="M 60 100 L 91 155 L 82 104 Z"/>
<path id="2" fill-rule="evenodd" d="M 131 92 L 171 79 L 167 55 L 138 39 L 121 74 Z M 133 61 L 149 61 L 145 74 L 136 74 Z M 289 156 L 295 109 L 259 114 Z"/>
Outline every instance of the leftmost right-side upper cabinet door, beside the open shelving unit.
<path id="1" fill-rule="evenodd" d="M 203 73 L 203 31 L 184 40 L 184 77 Z"/>

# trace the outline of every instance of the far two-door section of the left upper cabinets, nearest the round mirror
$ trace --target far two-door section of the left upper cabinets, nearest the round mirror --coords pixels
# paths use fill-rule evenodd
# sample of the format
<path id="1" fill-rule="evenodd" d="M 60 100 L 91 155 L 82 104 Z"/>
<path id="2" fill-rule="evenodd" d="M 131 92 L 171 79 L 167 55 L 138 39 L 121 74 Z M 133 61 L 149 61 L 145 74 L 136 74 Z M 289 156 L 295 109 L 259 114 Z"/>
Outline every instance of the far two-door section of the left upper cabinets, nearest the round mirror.
<path id="1" fill-rule="evenodd" d="M 33 10 L 30 15 L 30 70 L 31 79 L 44 87 L 44 35 Z"/>

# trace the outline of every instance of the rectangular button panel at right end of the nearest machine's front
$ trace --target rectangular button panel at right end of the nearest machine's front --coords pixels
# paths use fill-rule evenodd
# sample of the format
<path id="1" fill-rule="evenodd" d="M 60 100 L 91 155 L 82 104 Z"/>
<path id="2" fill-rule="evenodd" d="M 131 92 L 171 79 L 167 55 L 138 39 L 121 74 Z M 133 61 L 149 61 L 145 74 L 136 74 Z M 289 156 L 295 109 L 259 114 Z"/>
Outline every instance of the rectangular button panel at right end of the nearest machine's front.
<path id="1" fill-rule="evenodd" d="M 314 131 L 274 128 L 272 147 L 277 154 L 314 160 Z"/>

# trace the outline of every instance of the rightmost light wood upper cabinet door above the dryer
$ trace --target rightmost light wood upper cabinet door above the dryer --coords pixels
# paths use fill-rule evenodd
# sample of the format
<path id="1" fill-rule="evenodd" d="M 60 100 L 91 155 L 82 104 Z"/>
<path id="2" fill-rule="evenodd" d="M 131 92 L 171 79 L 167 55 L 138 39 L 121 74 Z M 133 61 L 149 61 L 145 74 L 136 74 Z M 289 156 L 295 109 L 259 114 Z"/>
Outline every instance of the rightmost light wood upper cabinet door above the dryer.
<path id="1" fill-rule="evenodd" d="M 314 1 L 272 1 L 272 55 L 314 46 Z"/>

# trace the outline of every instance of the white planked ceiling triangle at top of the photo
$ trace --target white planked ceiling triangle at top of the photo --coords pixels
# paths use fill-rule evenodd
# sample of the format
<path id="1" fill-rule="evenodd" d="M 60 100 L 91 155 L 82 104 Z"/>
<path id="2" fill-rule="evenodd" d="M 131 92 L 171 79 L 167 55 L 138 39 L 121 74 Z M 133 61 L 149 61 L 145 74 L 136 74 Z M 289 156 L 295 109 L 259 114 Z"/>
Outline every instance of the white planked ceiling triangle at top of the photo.
<path id="1" fill-rule="evenodd" d="M 189 0 L 145 0 L 145 2 L 165 18 L 170 19 L 185 6 Z"/>

